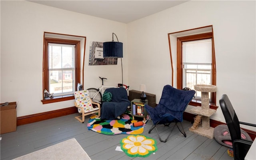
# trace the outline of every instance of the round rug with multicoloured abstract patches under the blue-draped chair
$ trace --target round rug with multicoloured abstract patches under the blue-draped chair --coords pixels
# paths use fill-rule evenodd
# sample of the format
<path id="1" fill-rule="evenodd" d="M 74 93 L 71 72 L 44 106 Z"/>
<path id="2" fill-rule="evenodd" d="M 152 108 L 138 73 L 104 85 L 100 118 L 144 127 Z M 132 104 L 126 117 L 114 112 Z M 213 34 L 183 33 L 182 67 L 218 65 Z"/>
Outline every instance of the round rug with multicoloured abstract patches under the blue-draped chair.
<path id="1" fill-rule="evenodd" d="M 101 134 L 114 135 L 114 134 L 142 134 L 144 131 L 144 126 L 134 127 L 132 124 L 138 122 L 137 120 L 132 120 L 132 115 L 129 111 L 124 112 L 120 116 L 119 120 L 101 120 L 96 116 L 92 115 L 87 124 L 87 128 L 94 132 Z"/>

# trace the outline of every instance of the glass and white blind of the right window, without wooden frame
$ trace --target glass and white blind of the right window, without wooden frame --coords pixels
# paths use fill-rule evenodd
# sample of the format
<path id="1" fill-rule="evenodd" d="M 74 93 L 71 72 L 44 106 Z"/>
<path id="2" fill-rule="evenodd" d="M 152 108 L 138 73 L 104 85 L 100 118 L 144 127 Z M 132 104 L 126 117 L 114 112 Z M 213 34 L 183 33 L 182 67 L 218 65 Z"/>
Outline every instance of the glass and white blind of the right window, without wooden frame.
<path id="1" fill-rule="evenodd" d="M 183 88 L 212 84 L 212 38 L 182 42 L 182 68 Z M 196 91 L 195 98 L 201 99 L 201 92 Z"/>

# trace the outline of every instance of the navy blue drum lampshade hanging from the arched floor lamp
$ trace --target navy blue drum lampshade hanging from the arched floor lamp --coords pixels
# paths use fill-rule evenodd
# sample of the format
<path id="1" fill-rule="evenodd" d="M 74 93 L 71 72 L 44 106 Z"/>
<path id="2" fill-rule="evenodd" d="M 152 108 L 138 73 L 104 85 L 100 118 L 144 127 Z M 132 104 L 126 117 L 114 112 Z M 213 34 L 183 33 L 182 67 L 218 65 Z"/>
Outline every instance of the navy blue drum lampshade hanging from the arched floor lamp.
<path id="1" fill-rule="evenodd" d="M 123 58 L 123 43 L 122 42 L 104 42 L 103 57 L 108 58 Z"/>

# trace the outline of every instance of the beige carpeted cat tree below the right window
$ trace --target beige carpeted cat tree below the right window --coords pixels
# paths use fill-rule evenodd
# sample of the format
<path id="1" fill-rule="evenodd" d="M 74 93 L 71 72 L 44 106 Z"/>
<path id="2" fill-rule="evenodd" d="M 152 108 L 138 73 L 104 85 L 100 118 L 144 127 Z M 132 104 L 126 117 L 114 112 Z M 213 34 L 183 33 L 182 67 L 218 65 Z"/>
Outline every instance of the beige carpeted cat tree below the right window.
<path id="1" fill-rule="evenodd" d="M 213 139 L 213 131 L 214 128 L 210 127 L 210 116 L 216 112 L 214 109 L 210 109 L 209 106 L 209 92 L 216 92 L 217 87 L 214 85 L 204 85 L 204 84 L 197 84 L 195 85 L 195 90 L 201 91 L 201 101 L 202 107 L 197 106 L 190 111 L 193 113 L 198 114 L 195 118 L 195 122 L 198 126 L 194 127 L 193 125 L 189 130 L 201 136 L 205 136 L 207 138 Z M 198 124 L 198 121 L 202 120 L 202 124 Z"/>

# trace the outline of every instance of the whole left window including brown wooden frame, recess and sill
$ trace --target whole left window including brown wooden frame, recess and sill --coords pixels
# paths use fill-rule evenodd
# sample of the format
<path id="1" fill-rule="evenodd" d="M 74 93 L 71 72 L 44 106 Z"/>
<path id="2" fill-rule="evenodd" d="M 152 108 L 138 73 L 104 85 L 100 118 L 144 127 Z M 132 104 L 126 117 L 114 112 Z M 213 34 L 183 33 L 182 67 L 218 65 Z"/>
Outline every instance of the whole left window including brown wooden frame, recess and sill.
<path id="1" fill-rule="evenodd" d="M 77 84 L 83 82 L 81 55 L 81 37 L 45 32 L 43 90 L 54 98 L 43 98 L 43 104 L 74 99 Z"/>

